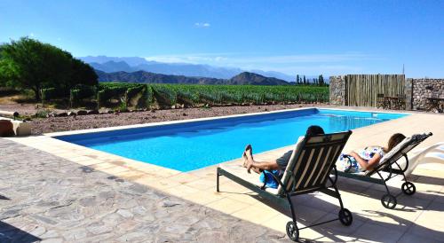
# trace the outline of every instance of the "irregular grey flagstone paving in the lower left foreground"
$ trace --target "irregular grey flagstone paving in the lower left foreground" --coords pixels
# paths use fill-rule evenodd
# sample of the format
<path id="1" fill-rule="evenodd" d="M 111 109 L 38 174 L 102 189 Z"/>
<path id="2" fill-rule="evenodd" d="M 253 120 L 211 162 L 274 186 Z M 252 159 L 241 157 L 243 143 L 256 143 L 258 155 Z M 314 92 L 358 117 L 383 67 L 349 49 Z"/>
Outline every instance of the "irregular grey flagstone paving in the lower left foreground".
<path id="1" fill-rule="evenodd" d="M 0 138 L 0 242 L 281 242 L 285 234 Z"/>

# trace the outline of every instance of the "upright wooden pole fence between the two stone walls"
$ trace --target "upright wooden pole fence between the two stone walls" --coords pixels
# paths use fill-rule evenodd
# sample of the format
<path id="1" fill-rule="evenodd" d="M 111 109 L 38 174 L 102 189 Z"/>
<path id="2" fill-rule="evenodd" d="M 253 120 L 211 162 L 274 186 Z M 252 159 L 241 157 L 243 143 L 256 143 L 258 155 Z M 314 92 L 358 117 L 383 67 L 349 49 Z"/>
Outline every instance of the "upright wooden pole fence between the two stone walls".
<path id="1" fill-rule="evenodd" d="M 404 74 L 345 75 L 345 106 L 377 106 L 377 94 L 405 97 Z"/>

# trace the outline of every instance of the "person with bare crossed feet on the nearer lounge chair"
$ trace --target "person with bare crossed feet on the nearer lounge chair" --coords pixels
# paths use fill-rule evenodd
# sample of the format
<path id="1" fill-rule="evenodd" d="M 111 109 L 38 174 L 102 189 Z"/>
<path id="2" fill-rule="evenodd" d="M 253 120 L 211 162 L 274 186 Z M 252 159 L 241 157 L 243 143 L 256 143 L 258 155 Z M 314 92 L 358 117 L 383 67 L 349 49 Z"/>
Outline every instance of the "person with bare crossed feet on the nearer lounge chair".
<path id="1" fill-rule="evenodd" d="M 320 126 L 310 126 L 306 132 L 305 136 L 301 136 L 298 138 L 297 143 L 302 141 L 306 136 L 314 136 L 325 134 L 324 130 Z M 291 157 L 292 150 L 289 150 L 287 153 L 282 154 L 282 156 L 274 161 L 255 161 L 253 158 L 253 149 L 251 145 L 247 145 L 245 147 L 245 151 L 242 154 L 244 159 L 243 166 L 247 168 L 248 173 L 250 173 L 250 169 L 253 169 L 256 173 L 260 174 L 263 170 L 269 170 L 274 173 L 274 175 L 281 178 L 284 170 L 287 168 L 289 164 L 289 159 Z"/>

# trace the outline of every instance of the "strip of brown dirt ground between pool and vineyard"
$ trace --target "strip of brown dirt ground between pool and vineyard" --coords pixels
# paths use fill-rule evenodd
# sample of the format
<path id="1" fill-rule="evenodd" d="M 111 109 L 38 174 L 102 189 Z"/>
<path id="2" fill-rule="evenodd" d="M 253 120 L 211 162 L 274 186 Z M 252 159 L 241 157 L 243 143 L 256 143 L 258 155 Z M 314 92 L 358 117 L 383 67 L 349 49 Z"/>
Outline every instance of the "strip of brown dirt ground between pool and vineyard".
<path id="1" fill-rule="evenodd" d="M 268 106 L 220 106 L 209 108 L 181 108 L 120 114 L 89 114 L 68 117 L 35 118 L 31 121 L 33 134 L 76 129 L 97 129 L 150 122 L 178 121 L 193 118 L 249 114 L 292 109 L 321 104 L 268 105 Z M 38 108 L 32 104 L 0 104 L 0 110 L 17 111 L 20 114 L 36 114 Z M 63 112 L 59 110 L 59 112 Z"/>

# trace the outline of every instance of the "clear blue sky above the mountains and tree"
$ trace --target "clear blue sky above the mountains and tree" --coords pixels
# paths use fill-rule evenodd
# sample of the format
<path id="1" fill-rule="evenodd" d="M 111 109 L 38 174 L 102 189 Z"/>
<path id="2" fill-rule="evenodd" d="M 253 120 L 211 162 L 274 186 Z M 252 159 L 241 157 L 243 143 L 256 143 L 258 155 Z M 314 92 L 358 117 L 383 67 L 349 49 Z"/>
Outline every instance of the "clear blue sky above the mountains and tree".
<path id="1" fill-rule="evenodd" d="M 0 42 L 286 74 L 444 77 L 444 1 L 0 0 Z"/>

